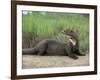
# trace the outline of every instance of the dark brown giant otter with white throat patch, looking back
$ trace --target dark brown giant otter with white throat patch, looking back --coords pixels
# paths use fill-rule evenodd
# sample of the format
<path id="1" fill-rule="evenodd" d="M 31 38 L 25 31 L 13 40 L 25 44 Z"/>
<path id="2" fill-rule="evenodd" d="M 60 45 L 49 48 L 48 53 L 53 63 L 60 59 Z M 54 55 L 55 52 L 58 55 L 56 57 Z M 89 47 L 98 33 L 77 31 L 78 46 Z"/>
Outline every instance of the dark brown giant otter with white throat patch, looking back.
<path id="1" fill-rule="evenodd" d="M 52 39 L 40 41 L 34 48 L 22 49 L 23 54 L 37 55 L 67 55 L 73 59 L 78 59 L 77 55 L 83 56 L 79 50 L 79 37 L 76 32 L 66 29 L 63 34 L 69 37 L 68 43 L 62 43 Z"/>

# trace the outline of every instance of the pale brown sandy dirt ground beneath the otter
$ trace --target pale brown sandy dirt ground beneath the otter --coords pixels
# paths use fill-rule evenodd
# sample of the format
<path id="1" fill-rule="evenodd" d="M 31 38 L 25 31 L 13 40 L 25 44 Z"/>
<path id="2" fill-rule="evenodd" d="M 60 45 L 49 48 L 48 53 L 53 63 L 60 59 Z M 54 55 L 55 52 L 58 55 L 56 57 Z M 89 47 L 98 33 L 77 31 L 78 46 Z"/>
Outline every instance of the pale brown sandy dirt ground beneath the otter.
<path id="1" fill-rule="evenodd" d="M 72 67 L 72 66 L 87 66 L 89 65 L 89 56 L 79 56 L 79 59 L 74 60 L 68 56 L 36 56 L 23 55 L 23 68 L 46 68 L 46 67 Z"/>

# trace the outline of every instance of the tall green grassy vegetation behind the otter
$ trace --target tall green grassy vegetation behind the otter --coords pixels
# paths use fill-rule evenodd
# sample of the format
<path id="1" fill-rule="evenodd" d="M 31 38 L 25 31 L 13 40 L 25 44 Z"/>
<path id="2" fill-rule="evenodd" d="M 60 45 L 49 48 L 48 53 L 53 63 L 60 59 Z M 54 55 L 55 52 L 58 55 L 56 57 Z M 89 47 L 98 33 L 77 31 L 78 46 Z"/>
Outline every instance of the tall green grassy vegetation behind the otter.
<path id="1" fill-rule="evenodd" d="M 45 38 L 52 38 L 66 43 L 67 39 L 61 33 L 64 29 L 76 31 L 80 38 L 81 50 L 88 51 L 89 14 L 33 11 L 22 16 L 23 35 L 24 33 L 31 33 L 31 44 L 33 45 Z"/>

